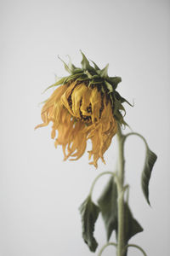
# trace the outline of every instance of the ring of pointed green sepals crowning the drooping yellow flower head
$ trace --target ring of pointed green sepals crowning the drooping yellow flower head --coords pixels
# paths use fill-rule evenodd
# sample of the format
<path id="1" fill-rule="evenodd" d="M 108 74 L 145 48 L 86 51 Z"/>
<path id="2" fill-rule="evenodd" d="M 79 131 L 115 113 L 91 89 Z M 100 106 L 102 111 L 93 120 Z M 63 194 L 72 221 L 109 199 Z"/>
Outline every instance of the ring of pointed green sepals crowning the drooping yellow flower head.
<path id="1" fill-rule="evenodd" d="M 99 90 L 102 90 L 104 95 L 108 94 L 111 100 L 111 108 L 113 110 L 113 115 L 115 119 L 119 122 L 120 125 L 127 125 L 124 121 L 121 111 L 125 112 L 125 108 L 122 106 L 123 102 L 127 102 L 125 98 L 120 96 L 120 94 L 116 91 L 117 84 L 119 84 L 122 79 L 120 77 L 109 77 L 108 76 L 108 67 L 107 64 L 103 69 L 100 69 L 94 61 L 94 67 L 92 67 L 87 59 L 87 57 L 82 53 L 82 68 L 76 67 L 71 62 L 71 57 L 69 56 L 69 63 L 66 64 L 60 57 L 59 60 L 64 63 L 65 70 L 70 73 L 69 76 L 64 77 L 57 81 L 56 83 L 48 86 L 46 90 L 52 88 L 57 85 L 62 85 L 66 83 L 71 83 L 75 81 L 87 81 L 88 88 L 91 88 L 92 85 L 98 87 Z M 94 88 L 93 86 L 93 88 Z M 45 90 L 45 91 L 46 91 Z M 133 106 L 129 102 L 127 102 L 130 106 Z"/>

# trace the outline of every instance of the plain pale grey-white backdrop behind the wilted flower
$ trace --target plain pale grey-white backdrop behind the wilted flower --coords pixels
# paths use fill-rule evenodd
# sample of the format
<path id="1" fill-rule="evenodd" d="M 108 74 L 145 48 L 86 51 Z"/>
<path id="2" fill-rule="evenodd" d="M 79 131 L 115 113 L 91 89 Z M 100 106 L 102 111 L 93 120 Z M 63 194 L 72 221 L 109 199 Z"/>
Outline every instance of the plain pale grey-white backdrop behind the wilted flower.
<path id="1" fill-rule="evenodd" d="M 67 75 L 57 58 L 81 61 L 79 49 L 109 74 L 121 76 L 118 91 L 128 106 L 126 120 L 158 155 L 150 180 L 148 207 L 140 188 L 144 145 L 137 137 L 126 143 L 126 182 L 130 206 L 144 232 L 131 243 L 148 256 L 168 256 L 169 195 L 169 65 L 170 3 L 128 1 L 1 1 L 0 94 L 0 256 L 97 255 L 82 241 L 78 207 L 100 172 L 116 163 L 116 138 L 96 170 L 88 153 L 63 162 L 54 148 L 51 125 L 41 123 L 41 107 L 53 90 L 42 95 L 54 76 Z M 127 129 L 128 131 L 128 129 Z M 124 132 L 127 132 L 124 131 Z M 88 143 L 88 148 L 91 144 Z M 106 179 L 94 190 L 94 201 Z M 105 244 L 101 218 L 94 233 Z M 114 241 L 115 236 L 111 237 Z M 129 255 L 138 256 L 135 248 Z M 103 254 L 116 255 L 114 247 Z"/>

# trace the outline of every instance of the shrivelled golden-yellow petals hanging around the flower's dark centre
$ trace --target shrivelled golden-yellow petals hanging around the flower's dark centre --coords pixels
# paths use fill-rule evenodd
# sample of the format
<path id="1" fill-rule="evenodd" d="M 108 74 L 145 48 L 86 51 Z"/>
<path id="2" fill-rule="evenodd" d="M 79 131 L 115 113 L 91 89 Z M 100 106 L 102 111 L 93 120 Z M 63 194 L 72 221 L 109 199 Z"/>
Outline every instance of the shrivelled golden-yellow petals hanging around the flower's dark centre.
<path id="1" fill-rule="evenodd" d="M 116 134 L 117 124 L 113 117 L 111 102 L 95 88 L 86 84 L 61 85 L 42 107 L 42 124 L 52 122 L 51 137 L 54 145 L 62 146 L 64 160 L 78 160 L 84 154 L 88 139 L 92 149 L 88 151 L 89 163 L 98 166 L 98 160 L 104 163 L 105 151 L 110 147 Z"/>

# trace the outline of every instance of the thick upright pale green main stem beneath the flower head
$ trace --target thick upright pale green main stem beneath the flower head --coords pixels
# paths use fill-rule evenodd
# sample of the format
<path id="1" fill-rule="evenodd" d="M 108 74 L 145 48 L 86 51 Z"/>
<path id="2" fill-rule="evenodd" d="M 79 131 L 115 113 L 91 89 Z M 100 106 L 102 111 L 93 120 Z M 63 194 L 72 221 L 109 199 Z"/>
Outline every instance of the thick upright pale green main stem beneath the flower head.
<path id="1" fill-rule="evenodd" d="M 119 160 L 117 170 L 117 206 L 118 206 L 118 236 L 117 236 L 117 256 L 123 256 L 123 248 L 125 247 L 124 242 L 124 136 L 122 135 L 121 127 L 118 126 L 117 131 L 118 145 L 119 145 Z"/>

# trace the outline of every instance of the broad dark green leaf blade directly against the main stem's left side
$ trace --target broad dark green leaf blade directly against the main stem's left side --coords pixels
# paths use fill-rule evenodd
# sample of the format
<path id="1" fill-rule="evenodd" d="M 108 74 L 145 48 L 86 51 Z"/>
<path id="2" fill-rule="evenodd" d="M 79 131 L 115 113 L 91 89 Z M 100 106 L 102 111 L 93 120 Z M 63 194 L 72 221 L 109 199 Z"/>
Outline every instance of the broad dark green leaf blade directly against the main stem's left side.
<path id="1" fill-rule="evenodd" d="M 117 190 L 113 177 L 109 180 L 98 200 L 102 218 L 105 223 L 107 241 L 117 228 Z"/>

